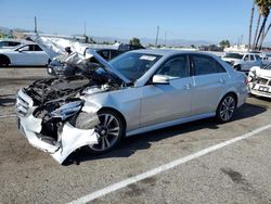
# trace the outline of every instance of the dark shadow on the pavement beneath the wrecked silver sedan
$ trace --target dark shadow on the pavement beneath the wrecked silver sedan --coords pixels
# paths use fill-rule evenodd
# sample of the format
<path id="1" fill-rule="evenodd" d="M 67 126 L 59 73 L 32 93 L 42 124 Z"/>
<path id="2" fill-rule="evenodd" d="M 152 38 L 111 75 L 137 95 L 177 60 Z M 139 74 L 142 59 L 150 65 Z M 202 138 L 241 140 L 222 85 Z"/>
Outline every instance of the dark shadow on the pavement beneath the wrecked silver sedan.
<path id="1" fill-rule="evenodd" d="M 266 111 L 267 109 L 263 106 L 246 103 L 240 110 L 236 111 L 234 120 L 230 123 L 253 117 Z M 120 144 L 113 151 L 99 156 L 89 155 L 86 151 L 83 151 L 83 149 L 81 149 L 70 154 L 68 158 L 65 161 L 64 165 L 72 165 L 72 164 L 79 165 L 81 162 L 106 158 L 106 157 L 129 157 L 138 150 L 149 149 L 153 142 L 163 140 L 168 137 L 178 137 L 181 133 L 201 130 L 204 128 L 218 129 L 219 128 L 218 125 L 219 124 L 216 122 L 215 118 L 207 118 L 146 133 L 132 136 L 124 139 L 120 142 Z"/>

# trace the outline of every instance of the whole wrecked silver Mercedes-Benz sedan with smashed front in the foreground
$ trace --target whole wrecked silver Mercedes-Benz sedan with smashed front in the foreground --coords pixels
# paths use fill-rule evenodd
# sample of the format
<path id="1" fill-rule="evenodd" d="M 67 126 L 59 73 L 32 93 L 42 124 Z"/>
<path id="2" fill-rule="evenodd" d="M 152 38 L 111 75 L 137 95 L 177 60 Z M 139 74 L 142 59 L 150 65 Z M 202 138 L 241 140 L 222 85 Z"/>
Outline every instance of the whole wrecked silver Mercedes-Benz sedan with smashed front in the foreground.
<path id="1" fill-rule="evenodd" d="M 122 137 L 206 117 L 229 122 L 247 97 L 245 75 L 212 54 L 137 50 L 108 63 L 93 56 L 100 66 L 17 92 L 20 130 L 59 163 L 81 146 L 100 154 Z"/>

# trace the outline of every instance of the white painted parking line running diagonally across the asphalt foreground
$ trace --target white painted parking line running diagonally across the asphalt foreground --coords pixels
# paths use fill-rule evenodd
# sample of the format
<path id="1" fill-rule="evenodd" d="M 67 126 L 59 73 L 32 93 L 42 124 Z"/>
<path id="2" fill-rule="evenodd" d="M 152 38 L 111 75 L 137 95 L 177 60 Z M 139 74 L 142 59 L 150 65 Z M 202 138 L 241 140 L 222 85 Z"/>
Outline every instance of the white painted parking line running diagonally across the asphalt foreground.
<path id="1" fill-rule="evenodd" d="M 188 156 L 184 156 L 184 157 L 178 158 L 176 161 L 172 161 L 170 163 L 164 164 L 164 165 L 158 166 L 158 167 L 156 167 L 154 169 L 151 169 L 149 171 L 145 171 L 145 173 L 142 173 L 140 175 L 130 177 L 130 178 L 125 179 L 122 181 L 119 181 L 117 183 L 111 184 L 111 186 L 108 186 L 108 187 L 106 187 L 104 189 L 98 190 L 98 191 L 92 192 L 90 194 L 87 194 L 87 195 L 85 195 L 82 197 L 79 197 L 79 199 L 77 199 L 75 201 L 72 201 L 70 204 L 87 203 L 87 202 L 93 201 L 94 199 L 104 196 L 104 195 L 106 195 L 108 193 L 112 193 L 114 191 L 122 189 L 122 188 L 125 188 L 125 187 L 127 187 L 129 184 L 136 183 L 136 182 L 138 182 L 140 180 L 143 180 L 145 178 L 149 178 L 149 177 L 153 177 L 153 176 L 158 175 L 158 174 L 160 174 L 163 171 L 169 170 L 169 169 L 171 169 L 171 168 L 173 168 L 176 166 L 179 166 L 179 165 L 184 164 L 186 162 L 190 162 L 192 160 L 198 158 L 198 157 L 201 157 L 201 156 L 203 156 L 205 154 L 208 154 L 210 152 L 215 152 L 215 151 L 217 151 L 217 150 L 219 150 L 221 148 L 224 148 L 224 146 L 233 144 L 233 143 L 235 143 L 237 141 L 244 140 L 244 139 L 249 138 L 251 136 L 255 136 L 255 135 L 257 135 L 257 133 L 259 133 L 261 131 L 264 131 L 264 130 L 267 130 L 269 128 L 271 128 L 271 124 L 269 124 L 267 126 L 263 126 L 263 127 L 260 127 L 258 129 L 255 129 L 255 130 L 253 130 L 253 131 L 250 131 L 248 133 L 245 133 L 243 136 L 240 136 L 240 137 L 227 140 L 224 142 L 211 145 L 211 146 L 206 148 L 204 150 L 201 150 L 201 151 L 198 151 L 198 152 L 196 152 L 194 154 L 190 154 Z"/>

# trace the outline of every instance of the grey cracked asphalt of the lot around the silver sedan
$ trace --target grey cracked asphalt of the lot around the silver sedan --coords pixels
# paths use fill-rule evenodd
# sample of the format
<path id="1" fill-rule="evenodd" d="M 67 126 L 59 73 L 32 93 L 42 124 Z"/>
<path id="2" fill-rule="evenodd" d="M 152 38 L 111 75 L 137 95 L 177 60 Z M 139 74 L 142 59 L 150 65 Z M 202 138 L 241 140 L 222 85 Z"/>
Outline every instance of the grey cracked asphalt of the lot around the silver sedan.
<path id="1" fill-rule="evenodd" d="M 0 203 L 67 203 L 271 122 L 271 100 L 250 97 L 231 123 L 165 128 L 127 138 L 105 155 L 74 152 L 59 165 L 28 144 L 12 116 L 16 90 L 41 77 L 44 68 L 0 68 Z M 271 203 L 270 150 L 267 129 L 92 203 Z"/>

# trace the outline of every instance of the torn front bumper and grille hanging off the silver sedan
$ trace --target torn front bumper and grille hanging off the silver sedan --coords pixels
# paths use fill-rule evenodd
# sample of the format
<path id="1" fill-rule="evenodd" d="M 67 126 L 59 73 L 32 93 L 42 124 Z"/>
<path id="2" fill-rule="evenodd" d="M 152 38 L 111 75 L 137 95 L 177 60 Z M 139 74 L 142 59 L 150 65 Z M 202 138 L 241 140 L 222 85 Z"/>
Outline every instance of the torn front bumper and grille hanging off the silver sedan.
<path id="1" fill-rule="evenodd" d="M 99 135 L 94 131 L 94 127 L 91 129 L 79 129 L 68 120 L 63 123 L 57 131 L 56 139 L 43 136 L 41 133 L 42 119 L 35 117 L 33 114 L 36 109 L 37 106 L 34 106 L 33 99 L 23 89 L 18 90 L 16 97 L 18 129 L 33 146 L 50 153 L 60 164 L 78 148 L 98 143 Z M 93 125 L 98 124 L 99 119 Z"/>

